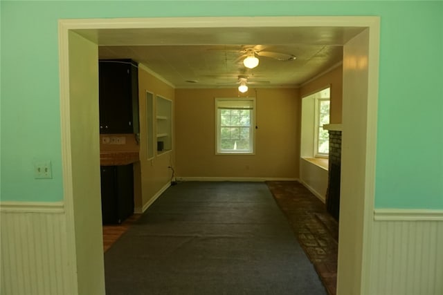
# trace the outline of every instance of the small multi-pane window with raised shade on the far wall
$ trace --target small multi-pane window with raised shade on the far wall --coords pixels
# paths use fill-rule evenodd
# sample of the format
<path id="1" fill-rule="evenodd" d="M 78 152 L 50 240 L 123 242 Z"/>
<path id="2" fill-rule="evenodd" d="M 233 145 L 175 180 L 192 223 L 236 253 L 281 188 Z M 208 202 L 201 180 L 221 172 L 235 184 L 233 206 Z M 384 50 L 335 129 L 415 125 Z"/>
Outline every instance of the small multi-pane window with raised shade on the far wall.
<path id="1" fill-rule="evenodd" d="M 216 153 L 254 153 L 254 98 L 215 99 Z"/>

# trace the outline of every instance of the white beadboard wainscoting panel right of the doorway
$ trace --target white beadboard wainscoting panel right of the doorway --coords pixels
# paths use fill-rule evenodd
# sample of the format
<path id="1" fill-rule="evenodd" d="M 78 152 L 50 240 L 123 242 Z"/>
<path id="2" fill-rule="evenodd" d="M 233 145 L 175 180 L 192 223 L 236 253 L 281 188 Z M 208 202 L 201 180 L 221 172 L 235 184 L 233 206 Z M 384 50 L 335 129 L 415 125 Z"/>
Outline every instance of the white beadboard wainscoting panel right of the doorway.
<path id="1" fill-rule="evenodd" d="M 374 212 L 370 294 L 443 294 L 443 211 Z"/>

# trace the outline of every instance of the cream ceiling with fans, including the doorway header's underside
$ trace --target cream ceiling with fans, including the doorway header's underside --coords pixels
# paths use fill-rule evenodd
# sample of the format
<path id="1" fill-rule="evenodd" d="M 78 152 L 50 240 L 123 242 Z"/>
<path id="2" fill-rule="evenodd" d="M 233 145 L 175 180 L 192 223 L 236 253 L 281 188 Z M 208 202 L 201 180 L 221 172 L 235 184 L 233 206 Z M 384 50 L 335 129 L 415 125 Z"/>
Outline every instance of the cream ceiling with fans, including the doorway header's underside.
<path id="1" fill-rule="evenodd" d="M 297 87 L 342 61 L 343 44 L 363 28 L 150 28 L 76 30 L 99 45 L 100 59 L 130 58 L 176 88 L 235 87 L 239 75 L 257 87 Z M 295 55 L 242 64 L 244 48 Z"/>

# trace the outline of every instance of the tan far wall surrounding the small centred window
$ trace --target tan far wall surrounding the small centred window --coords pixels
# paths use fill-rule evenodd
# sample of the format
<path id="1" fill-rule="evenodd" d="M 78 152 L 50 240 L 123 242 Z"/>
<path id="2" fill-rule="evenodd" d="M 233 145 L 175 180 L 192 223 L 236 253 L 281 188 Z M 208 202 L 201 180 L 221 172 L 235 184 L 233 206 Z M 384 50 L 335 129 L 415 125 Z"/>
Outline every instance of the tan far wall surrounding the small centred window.
<path id="1" fill-rule="evenodd" d="M 177 176 L 194 178 L 298 178 L 300 99 L 298 90 L 254 89 L 255 155 L 215 155 L 215 97 L 237 97 L 237 89 L 177 89 Z"/>

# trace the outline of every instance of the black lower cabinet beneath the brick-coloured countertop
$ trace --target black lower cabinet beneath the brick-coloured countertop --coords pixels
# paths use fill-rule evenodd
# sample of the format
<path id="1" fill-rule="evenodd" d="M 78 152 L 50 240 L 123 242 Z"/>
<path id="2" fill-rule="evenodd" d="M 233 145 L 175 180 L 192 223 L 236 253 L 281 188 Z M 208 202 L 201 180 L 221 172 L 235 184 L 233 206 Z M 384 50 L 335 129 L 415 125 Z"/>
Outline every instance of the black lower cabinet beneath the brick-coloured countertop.
<path id="1" fill-rule="evenodd" d="M 100 166 L 100 177 L 103 224 L 120 224 L 134 213 L 132 164 Z"/>

